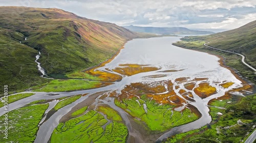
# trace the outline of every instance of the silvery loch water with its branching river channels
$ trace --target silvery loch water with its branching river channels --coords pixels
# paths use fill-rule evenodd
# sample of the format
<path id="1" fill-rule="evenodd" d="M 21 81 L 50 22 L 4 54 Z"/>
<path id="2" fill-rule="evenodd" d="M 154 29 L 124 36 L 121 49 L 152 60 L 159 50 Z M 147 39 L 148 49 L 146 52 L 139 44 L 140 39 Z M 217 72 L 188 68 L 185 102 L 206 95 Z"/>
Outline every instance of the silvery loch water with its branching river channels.
<path id="1" fill-rule="evenodd" d="M 191 81 L 195 82 L 197 85 L 201 82 L 207 82 L 209 83 L 209 85 L 217 89 L 216 94 L 202 99 L 198 95 L 196 95 L 195 92 L 192 90 L 190 92 L 193 94 L 195 102 L 188 101 L 183 98 L 186 101 L 186 104 L 184 104 L 183 108 L 187 104 L 193 105 L 200 111 L 202 117 L 197 121 L 170 129 L 169 131 L 165 132 L 162 135 L 159 135 L 158 137 L 155 137 L 154 139 L 160 141 L 163 138 L 166 138 L 167 136 L 170 135 L 174 135 L 176 133 L 185 132 L 192 129 L 198 129 L 206 125 L 207 123 L 210 123 L 211 121 L 211 117 L 208 113 L 209 108 L 207 106 L 209 100 L 221 97 L 225 94 L 225 92 L 233 88 L 242 87 L 242 82 L 238 80 L 228 69 L 220 66 L 220 63 L 218 62 L 220 59 L 217 56 L 210 55 L 204 52 L 183 49 L 172 45 L 172 43 L 179 41 L 180 38 L 181 37 L 161 37 L 131 40 L 125 44 L 124 48 L 121 49 L 120 53 L 110 63 L 105 64 L 105 66 L 97 69 L 120 75 L 120 73 L 116 73 L 113 71 L 113 69 L 120 67 L 120 64 L 139 64 L 148 65 L 151 67 L 158 67 L 159 70 L 157 71 L 138 73 L 132 76 L 122 75 L 123 78 L 121 81 L 114 82 L 114 84 L 98 89 L 75 92 L 32 92 L 35 93 L 35 95 L 9 104 L 9 110 L 22 107 L 35 100 L 56 99 L 65 96 L 88 93 L 88 95 L 78 99 L 72 104 L 65 106 L 57 112 L 55 112 L 50 118 L 48 118 L 47 121 L 44 121 L 39 126 L 35 142 L 46 143 L 50 139 L 51 133 L 54 130 L 54 128 L 58 125 L 61 117 L 65 116 L 66 113 L 68 113 L 78 103 L 87 100 L 89 96 L 92 96 L 95 93 L 102 91 L 117 91 L 117 93 L 120 93 L 120 91 L 125 87 L 125 85 L 129 85 L 131 83 L 153 83 L 163 80 L 171 80 L 174 83 L 174 87 L 175 85 L 179 86 L 178 89 L 173 90 L 177 93 L 179 97 L 183 98 L 179 94 L 179 90 L 183 89 L 185 91 L 188 91 L 184 88 L 184 84 L 189 83 Z M 177 72 L 166 72 L 166 70 L 176 70 Z M 153 75 L 164 76 L 153 78 Z M 186 77 L 188 80 L 182 83 L 177 82 L 175 79 L 180 77 Z M 193 79 L 195 78 L 207 79 L 203 81 L 194 81 Z M 227 81 L 234 82 L 234 84 L 232 84 L 227 89 L 222 88 L 220 84 Z M 49 94 L 57 95 L 51 96 Z M 102 99 L 97 98 L 96 100 Z M 115 106 L 113 102 L 113 98 L 110 97 L 102 100 L 102 103 L 109 104 L 112 108 L 114 108 L 120 113 L 121 117 L 125 121 L 126 126 L 129 129 L 129 138 L 135 138 L 137 142 L 148 142 L 146 136 L 143 137 L 140 131 L 131 126 L 131 122 L 133 121 L 131 120 L 130 115 L 128 115 L 122 109 Z M 98 104 L 98 101 L 95 101 L 95 104 Z M 181 109 L 177 108 L 177 110 Z M 4 108 L 0 108 L 0 113 L 3 113 L 3 111 Z M 1 115 L 3 114 L 0 114 L 0 116 Z"/>

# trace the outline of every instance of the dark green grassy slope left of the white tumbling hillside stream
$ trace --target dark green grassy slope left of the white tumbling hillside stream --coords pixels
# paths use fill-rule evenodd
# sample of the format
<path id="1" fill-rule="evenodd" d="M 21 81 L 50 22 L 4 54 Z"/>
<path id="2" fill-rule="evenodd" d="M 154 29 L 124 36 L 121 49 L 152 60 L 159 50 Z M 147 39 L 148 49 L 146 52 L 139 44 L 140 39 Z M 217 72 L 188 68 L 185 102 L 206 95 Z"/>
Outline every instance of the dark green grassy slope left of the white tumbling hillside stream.
<path id="1" fill-rule="evenodd" d="M 20 39 L 24 39 L 23 34 L 0 27 L 0 85 L 2 90 L 5 84 L 8 85 L 9 91 L 13 91 L 47 81 L 39 77 L 34 62 L 37 51 L 20 44 L 18 42 Z"/>

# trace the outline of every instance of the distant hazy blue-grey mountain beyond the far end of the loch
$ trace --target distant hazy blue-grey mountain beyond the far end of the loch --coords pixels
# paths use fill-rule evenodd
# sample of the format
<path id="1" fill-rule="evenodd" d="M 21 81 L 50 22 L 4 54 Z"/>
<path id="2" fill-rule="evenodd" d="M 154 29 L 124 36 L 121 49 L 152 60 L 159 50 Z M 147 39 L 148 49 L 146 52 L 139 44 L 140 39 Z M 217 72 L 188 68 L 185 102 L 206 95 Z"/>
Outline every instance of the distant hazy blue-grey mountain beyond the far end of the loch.
<path id="1" fill-rule="evenodd" d="M 123 26 L 134 32 L 144 32 L 144 33 L 155 33 L 155 34 L 181 34 L 181 35 L 205 35 L 214 34 L 214 32 L 208 31 L 195 31 L 189 30 L 185 27 L 141 27 L 141 26 Z"/>

